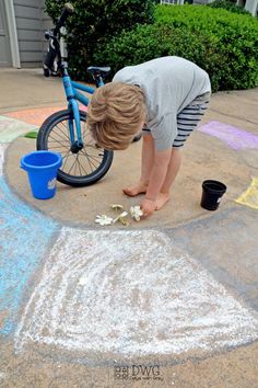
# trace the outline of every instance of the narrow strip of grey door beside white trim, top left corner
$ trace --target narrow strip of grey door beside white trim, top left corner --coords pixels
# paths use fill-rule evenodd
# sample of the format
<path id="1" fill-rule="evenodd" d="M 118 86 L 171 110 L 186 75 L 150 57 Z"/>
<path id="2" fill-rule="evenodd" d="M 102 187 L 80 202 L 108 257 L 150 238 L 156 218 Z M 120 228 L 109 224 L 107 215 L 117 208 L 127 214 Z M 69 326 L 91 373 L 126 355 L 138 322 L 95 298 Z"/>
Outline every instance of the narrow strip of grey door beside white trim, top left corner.
<path id="1" fill-rule="evenodd" d="M 4 0 L 0 0 L 0 67 L 11 66 L 10 39 Z"/>

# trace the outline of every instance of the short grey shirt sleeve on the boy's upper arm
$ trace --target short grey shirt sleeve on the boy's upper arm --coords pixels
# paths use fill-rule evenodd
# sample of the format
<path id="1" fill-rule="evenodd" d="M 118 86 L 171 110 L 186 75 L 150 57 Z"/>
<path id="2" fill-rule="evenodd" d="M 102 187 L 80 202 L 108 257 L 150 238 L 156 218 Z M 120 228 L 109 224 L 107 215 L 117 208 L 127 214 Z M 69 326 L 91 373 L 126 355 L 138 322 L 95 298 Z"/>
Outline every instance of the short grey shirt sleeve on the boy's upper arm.
<path id="1" fill-rule="evenodd" d="M 174 139 L 177 136 L 176 115 L 172 113 L 166 114 L 155 125 L 151 126 L 150 130 L 157 151 L 172 148 Z"/>

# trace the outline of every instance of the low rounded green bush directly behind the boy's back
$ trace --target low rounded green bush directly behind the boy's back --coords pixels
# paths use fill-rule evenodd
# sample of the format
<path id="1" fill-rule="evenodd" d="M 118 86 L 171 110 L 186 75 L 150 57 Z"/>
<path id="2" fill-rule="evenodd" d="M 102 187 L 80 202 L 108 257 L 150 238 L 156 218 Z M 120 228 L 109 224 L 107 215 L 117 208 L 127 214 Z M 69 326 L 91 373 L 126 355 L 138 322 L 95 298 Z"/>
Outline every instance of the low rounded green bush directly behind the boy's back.
<path id="1" fill-rule="evenodd" d="M 215 49 L 216 41 L 201 32 L 192 33 L 188 27 L 174 27 L 167 23 L 138 25 L 133 31 L 124 32 L 107 45 L 98 47 L 95 62 L 109 65 L 113 73 L 124 66 L 137 65 L 153 58 L 176 55 L 195 61 L 209 73 L 213 72 L 212 83 L 219 89 L 220 76 L 215 64 L 223 66 L 223 57 Z M 213 49 L 212 49 L 213 47 Z"/>

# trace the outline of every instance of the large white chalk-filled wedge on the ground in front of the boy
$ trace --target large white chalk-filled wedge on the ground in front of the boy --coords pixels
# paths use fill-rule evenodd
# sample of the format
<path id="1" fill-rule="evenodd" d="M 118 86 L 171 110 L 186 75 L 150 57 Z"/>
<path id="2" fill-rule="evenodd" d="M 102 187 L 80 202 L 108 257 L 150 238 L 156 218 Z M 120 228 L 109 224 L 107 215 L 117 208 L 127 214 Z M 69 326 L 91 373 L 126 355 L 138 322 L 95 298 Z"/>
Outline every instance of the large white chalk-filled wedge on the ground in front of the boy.
<path id="1" fill-rule="evenodd" d="M 63 228 L 14 335 L 16 352 L 211 352 L 258 320 L 164 233 Z"/>

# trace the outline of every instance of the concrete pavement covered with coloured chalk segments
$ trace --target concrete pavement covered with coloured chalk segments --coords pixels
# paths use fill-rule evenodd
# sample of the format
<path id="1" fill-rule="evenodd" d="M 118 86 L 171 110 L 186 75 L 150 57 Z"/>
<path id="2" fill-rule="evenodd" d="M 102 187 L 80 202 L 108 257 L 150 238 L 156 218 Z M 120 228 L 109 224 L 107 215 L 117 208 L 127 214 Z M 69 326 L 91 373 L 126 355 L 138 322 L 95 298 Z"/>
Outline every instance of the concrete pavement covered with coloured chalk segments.
<path id="1" fill-rule="evenodd" d="M 212 96 L 164 209 L 102 228 L 109 204 L 140 201 L 121 187 L 138 179 L 141 142 L 97 184 L 37 201 L 24 134 L 66 105 L 61 82 L 38 69 L 0 78 L 0 386 L 258 386 L 258 89 Z M 200 207 L 206 179 L 227 186 L 216 212 Z"/>

